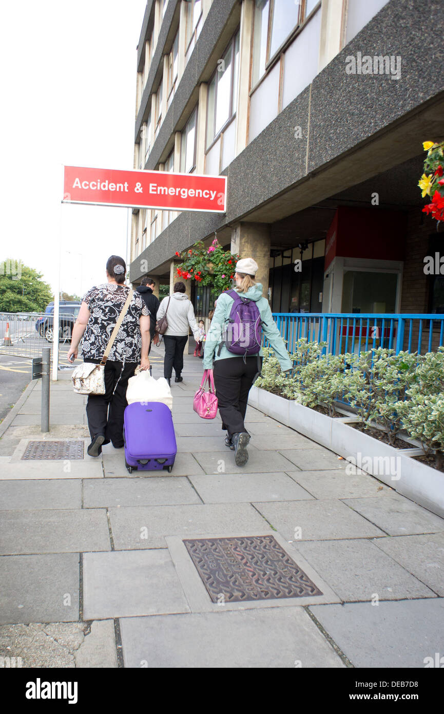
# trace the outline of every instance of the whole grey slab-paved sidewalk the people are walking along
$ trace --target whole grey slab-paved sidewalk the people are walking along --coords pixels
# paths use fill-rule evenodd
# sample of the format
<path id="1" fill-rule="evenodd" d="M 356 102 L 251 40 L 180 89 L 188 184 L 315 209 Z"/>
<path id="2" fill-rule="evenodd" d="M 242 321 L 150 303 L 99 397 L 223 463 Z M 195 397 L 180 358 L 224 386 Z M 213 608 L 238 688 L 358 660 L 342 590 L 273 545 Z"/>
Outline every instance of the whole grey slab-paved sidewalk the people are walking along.
<path id="1" fill-rule="evenodd" d="M 151 357 L 162 376 L 163 352 Z M 111 445 L 97 459 L 86 448 L 22 459 L 29 441 L 89 443 L 69 371 L 51 384 L 45 436 L 41 384 L 26 392 L 0 439 L 0 656 L 51 668 L 423 668 L 444 655 L 444 521 L 250 407 L 250 458 L 236 467 L 220 418 L 193 412 L 201 373 L 188 356 L 172 385 L 171 476 L 130 476 Z M 313 589 L 213 602 L 183 541 L 251 536 L 273 536 Z"/>

